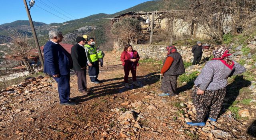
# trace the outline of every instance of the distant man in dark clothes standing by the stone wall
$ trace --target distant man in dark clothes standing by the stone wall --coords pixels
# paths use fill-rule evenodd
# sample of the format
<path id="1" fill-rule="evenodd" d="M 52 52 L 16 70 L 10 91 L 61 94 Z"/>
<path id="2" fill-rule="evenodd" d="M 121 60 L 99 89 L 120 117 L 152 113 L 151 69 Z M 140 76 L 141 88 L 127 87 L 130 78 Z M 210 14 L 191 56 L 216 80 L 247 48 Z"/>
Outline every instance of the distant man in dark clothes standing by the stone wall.
<path id="1" fill-rule="evenodd" d="M 196 45 L 192 48 L 192 53 L 194 54 L 194 60 L 192 65 L 199 64 L 203 54 L 201 41 L 196 42 Z"/>

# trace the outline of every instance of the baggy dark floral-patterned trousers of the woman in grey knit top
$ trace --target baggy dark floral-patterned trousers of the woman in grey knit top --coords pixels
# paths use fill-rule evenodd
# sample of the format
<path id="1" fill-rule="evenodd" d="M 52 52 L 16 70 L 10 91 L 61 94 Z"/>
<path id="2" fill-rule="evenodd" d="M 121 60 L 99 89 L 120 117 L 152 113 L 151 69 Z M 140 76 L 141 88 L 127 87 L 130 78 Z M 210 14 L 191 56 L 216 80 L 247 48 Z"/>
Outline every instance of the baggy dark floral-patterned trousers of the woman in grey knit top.
<path id="1" fill-rule="evenodd" d="M 206 115 L 213 119 L 217 119 L 224 97 L 226 95 L 226 87 L 219 90 L 206 90 L 204 94 L 198 95 L 197 90 L 200 84 L 192 91 L 192 99 L 196 108 L 196 120 L 203 122 Z"/>

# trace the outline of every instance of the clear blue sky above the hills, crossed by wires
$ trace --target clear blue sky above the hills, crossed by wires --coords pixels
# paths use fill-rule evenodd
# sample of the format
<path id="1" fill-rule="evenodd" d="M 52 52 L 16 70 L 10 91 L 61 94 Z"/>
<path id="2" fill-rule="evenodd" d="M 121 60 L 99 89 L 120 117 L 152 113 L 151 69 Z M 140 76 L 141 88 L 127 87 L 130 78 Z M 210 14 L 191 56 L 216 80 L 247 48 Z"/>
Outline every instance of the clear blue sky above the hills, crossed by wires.
<path id="1" fill-rule="evenodd" d="M 146 1 L 150 0 L 35 0 L 30 14 L 33 21 L 46 24 L 60 23 L 98 13 L 114 14 Z M 23 0 L 1 0 L 0 13 L 0 24 L 16 20 L 28 20 Z"/>

